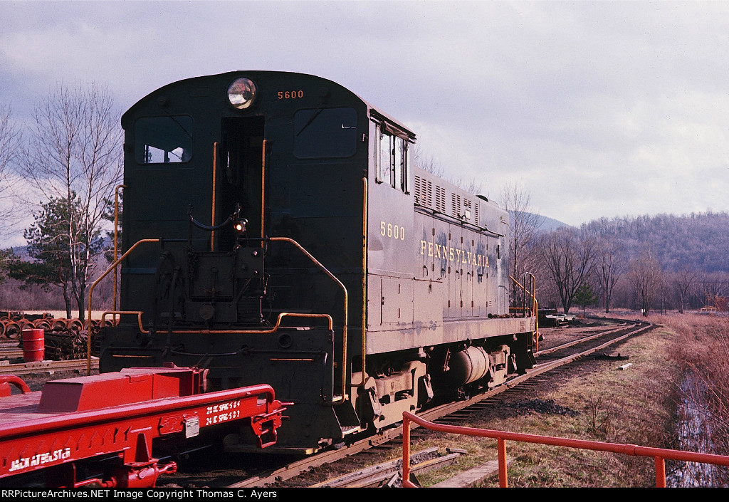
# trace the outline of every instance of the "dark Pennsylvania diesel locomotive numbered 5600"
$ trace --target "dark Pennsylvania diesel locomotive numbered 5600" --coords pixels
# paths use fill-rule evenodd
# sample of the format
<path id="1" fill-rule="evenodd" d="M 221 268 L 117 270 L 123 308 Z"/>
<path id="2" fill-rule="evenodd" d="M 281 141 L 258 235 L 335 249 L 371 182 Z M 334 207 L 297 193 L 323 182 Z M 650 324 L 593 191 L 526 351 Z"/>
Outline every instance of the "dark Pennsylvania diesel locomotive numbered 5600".
<path id="1" fill-rule="evenodd" d="M 291 403 L 275 449 L 309 453 L 534 364 L 536 310 L 510 314 L 507 212 L 418 169 L 416 134 L 351 90 L 196 77 L 122 127 L 101 371 L 175 363 L 204 368 L 208 390 L 270 385 Z"/>

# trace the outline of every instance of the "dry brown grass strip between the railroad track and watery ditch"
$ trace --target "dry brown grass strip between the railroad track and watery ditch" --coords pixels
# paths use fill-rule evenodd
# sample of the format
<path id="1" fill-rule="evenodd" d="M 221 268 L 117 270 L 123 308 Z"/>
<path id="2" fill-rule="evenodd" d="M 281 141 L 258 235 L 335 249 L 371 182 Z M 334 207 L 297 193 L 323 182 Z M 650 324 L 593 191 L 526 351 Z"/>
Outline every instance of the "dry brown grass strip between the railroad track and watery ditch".
<path id="1" fill-rule="evenodd" d="M 633 366 L 620 371 L 615 361 L 593 361 L 559 385 L 536 390 L 527 399 L 553 401 L 552 412 L 537 409 L 504 409 L 473 427 L 512 430 L 578 439 L 666 447 L 674 441 L 674 411 L 681 368 L 670 361 L 678 335 L 658 328 L 620 347 Z M 525 398 L 521 398 L 524 400 Z M 515 412 L 514 410 L 518 410 Z M 469 451 L 468 466 L 496 458 L 493 440 L 443 436 L 429 441 Z M 419 448 L 419 446 L 418 446 Z M 545 447 L 526 443 L 507 444 L 509 484 L 513 487 L 649 487 L 655 484 L 652 459 L 613 455 L 580 449 Z M 458 468 L 423 476 L 434 484 Z M 496 486 L 494 479 L 484 486 Z"/>

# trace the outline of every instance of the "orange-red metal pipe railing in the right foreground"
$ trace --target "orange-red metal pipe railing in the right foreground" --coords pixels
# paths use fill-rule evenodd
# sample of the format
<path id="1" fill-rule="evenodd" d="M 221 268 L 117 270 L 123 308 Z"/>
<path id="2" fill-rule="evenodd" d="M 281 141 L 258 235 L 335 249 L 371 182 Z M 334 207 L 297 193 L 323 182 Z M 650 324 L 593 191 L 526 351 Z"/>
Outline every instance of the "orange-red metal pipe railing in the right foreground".
<path id="1" fill-rule="evenodd" d="M 666 459 L 729 466 L 729 457 L 724 455 L 682 452 L 677 449 L 639 447 L 636 444 L 603 443 L 601 441 L 585 441 L 584 439 L 537 436 L 535 434 L 506 432 L 504 430 L 459 427 L 458 425 L 441 425 L 423 420 L 410 412 L 402 412 L 402 486 L 407 488 L 416 487 L 416 484 L 410 482 L 410 422 L 415 422 L 421 427 L 430 430 L 439 430 L 440 432 L 496 439 L 496 449 L 499 452 L 499 486 L 502 488 L 508 486 L 506 460 L 507 440 L 548 444 L 558 447 L 593 449 L 600 452 L 622 453 L 624 455 L 639 457 L 653 457 L 655 460 L 655 486 L 659 488 L 666 487 Z"/>

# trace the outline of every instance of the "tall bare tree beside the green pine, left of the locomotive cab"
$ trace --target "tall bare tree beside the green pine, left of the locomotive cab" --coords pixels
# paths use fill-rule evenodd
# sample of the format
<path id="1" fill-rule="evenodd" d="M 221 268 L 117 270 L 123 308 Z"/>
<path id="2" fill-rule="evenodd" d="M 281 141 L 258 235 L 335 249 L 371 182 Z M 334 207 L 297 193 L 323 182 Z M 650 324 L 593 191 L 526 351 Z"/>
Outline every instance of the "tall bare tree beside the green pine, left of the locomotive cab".
<path id="1" fill-rule="evenodd" d="M 93 236 L 104 224 L 106 201 L 122 174 L 121 128 L 108 90 L 65 85 L 34 109 L 34 122 L 24 155 L 28 181 L 35 194 L 64 201 L 69 221 L 56 238 L 68 249 L 69 286 L 84 318 L 85 294 L 95 252 Z M 71 210 L 74 205 L 78 210 Z"/>

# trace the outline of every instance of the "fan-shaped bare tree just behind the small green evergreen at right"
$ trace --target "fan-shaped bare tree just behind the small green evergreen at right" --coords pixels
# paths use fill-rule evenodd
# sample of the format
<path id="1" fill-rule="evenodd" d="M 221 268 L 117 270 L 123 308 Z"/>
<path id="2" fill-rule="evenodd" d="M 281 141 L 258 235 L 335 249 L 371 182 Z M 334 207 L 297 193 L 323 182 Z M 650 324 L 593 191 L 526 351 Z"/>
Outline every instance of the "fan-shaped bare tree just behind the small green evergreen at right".
<path id="1" fill-rule="evenodd" d="M 596 245 L 590 236 L 572 228 L 559 228 L 543 236 L 542 259 L 557 287 L 564 313 L 572 306 L 574 293 L 587 282 L 595 267 Z"/>

